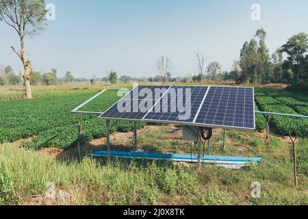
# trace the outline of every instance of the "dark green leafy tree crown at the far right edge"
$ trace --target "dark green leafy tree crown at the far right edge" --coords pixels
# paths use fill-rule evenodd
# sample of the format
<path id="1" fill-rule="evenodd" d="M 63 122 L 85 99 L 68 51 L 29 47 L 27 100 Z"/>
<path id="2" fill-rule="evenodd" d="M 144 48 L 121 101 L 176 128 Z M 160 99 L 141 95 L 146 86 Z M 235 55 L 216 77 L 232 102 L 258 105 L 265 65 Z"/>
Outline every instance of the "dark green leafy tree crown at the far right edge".
<path id="1" fill-rule="evenodd" d="M 307 77 L 305 64 L 307 62 L 306 53 L 308 50 L 308 35 L 299 33 L 292 36 L 287 43 L 281 47 L 284 53 L 287 53 L 287 60 L 284 66 L 290 66 L 296 81 Z"/>

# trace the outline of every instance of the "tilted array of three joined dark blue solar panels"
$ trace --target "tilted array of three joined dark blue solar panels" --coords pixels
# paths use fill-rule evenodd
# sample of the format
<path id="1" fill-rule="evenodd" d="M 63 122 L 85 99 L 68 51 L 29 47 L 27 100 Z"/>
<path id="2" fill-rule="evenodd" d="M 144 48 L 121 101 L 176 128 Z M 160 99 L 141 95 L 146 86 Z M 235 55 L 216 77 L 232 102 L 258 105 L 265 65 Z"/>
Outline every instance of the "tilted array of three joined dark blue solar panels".
<path id="1" fill-rule="evenodd" d="M 254 90 L 219 86 L 138 86 L 100 118 L 253 130 Z"/>

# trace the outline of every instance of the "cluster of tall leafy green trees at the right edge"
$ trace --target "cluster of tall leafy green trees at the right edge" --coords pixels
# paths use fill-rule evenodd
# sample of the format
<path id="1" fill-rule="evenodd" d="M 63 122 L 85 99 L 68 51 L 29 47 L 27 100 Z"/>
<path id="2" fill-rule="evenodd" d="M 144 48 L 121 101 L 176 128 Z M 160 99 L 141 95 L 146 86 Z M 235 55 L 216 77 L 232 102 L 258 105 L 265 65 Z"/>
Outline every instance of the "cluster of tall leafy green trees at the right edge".
<path id="1" fill-rule="evenodd" d="M 299 33 L 270 55 L 266 31 L 258 29 L 254 38 L 244 42 L 233 74 L 238 83 L 307 83 L 307 51 L 308 35 Z"/>

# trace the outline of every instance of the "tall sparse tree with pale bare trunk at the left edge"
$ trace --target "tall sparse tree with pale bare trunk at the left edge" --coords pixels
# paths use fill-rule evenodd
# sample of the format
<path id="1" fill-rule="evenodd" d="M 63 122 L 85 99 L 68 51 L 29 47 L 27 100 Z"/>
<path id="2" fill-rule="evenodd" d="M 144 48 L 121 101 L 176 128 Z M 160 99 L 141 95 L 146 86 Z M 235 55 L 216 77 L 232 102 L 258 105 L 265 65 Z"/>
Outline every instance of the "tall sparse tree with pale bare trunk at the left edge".
<path id="1" fill-rule="evenodd" d="M 0 1 L 0 21 L 12 27 L 19 36 L 21 51 L 17 51 L 14 47 L 11 48 L 23 62 L 23 79 L 28 99 L 32 98 L 29 77 L 31 62 L 26 57 L 25 36 L 37 34 L 42 29 L 46 13 L 44 0 Z"/>

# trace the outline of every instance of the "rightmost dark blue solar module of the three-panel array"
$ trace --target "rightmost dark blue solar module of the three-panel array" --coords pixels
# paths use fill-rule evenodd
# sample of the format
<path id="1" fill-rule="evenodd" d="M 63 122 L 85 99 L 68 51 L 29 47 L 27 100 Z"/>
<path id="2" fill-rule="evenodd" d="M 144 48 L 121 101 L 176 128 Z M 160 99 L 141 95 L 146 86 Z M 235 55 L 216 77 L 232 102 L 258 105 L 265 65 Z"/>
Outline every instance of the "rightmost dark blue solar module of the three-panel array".
<path id="1" fill-rule="evenodd" d="M 211 87 L 196 124 L 255 129 L 253 88 Z"/>

